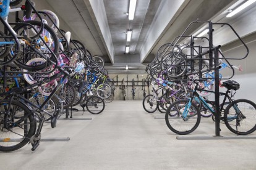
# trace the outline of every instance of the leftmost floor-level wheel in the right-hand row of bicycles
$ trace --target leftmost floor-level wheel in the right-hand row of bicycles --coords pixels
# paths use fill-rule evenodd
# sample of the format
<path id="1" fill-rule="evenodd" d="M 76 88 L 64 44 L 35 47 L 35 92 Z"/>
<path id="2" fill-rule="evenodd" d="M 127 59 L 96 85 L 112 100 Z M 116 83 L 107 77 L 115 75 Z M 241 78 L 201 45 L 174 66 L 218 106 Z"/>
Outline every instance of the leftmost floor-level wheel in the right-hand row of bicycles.
<path id="1" fill-rule="evenodd" d="M 157 102 L 152 94 L 148 94 L 146 97 L 144 97 L 142 105 L 144 110 L 148 113 L 154 113 L 157 109 Z"/>

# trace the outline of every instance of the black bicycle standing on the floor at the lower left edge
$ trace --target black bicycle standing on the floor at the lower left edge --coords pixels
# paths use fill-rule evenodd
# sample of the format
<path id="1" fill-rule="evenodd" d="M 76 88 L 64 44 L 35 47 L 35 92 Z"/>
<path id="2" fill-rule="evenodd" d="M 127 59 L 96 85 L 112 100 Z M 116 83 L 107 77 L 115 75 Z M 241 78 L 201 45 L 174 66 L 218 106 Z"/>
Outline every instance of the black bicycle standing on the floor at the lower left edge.
<path id="1" fill-rule="evenodd" d="M 62 68 L 58 69 L 61 70 L 61 73 L 46 78 L 45 81 L 53 81 L 53 79 L 59 78 L 62 75 L 64 75 L 63 79 L 70 76 L 70 74 L 62 70 Z M 49 113 L 44 107 L 53 97 L 59 86 L 61 86 L 62 81 L 59 81 L 58 86 L 54 88 L 51 95 L 49 95 L 41 105 L 30 102 L 30 100 L 21 95 L 24 94 L 24 92 L 31 92 L 35 87 L 43 83 L 44 81 L 41 81 L 27 87 L 13 88 L 11 91 L 1 94 L 6 95 L 8 99 L 0 102 L 1 137 L 4 137 L 0 143 L 0 151 L 11 152 L 23 147 L 28 142 L 32 144 L 32 150 L 35 150 L 40 144 L 41 129 L 45 122 L 46 115 L 51 119 L 51 127 L 56 127 L 61 110 L 58 110 L 56 114 L 52 115 L 53 113 Z M 36 118 L 38 120 L 36 120 Z M 37 128 L 36 121 L 39 121 Z M 20 129 L 22 130 L 20 131 Z M 16 139 L 20 136 L 22 139 Z M 14 143 L 12 143 L 13 141 Z"/>

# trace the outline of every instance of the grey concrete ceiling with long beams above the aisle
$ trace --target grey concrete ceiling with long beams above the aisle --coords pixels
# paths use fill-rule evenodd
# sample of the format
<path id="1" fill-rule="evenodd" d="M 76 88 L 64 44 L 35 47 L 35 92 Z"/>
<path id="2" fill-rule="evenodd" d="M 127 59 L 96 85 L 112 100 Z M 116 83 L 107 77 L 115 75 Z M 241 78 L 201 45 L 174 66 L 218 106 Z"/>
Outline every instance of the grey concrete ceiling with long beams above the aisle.
<path id="1" fill-rule="evenodd" d="M 190 22 L 197 18 L 226 22 L 218 17 L 242 1 L 137 0 L 134 20 L 129 21 L 125 14 L 129 0 L 35 0 L 36 9 L 56 12 L 63 30 L 71 31 L 72 38 L 83 42 L 92 55 L 102 56 L 109 70 L 119 71 L 127 63 L 134 66 L 131 69 L 143 70 L 158 48 L 172 42 Z M 126 42 L 127 30 L 132 30 L 130 42 Z M 126 46 L 130 46 L 128 55 L 124 54 Z"/>

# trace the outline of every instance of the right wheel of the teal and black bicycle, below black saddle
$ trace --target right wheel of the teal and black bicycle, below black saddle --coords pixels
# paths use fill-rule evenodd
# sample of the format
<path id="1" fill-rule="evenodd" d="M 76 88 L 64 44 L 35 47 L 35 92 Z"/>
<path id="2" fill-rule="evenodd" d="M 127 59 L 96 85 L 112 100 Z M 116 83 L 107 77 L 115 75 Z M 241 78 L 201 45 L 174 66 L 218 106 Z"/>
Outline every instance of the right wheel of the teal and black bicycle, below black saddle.
<path id="1" fill-rule="evenodd" d="M 224 122 L 228 129 L 238 135 L 247 135 L 256 130 L 256 104 L 239 99 L 230 103 L 224 111 Z"/>

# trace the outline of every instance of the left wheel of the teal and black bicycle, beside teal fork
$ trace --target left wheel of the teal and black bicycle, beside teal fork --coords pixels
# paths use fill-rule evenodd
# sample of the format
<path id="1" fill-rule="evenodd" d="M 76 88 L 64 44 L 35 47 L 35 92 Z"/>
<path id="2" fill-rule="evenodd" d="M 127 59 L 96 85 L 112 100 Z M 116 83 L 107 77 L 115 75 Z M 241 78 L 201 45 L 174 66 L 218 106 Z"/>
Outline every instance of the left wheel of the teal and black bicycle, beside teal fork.
<path id="1" fill-rule="evenodd" d="M 166 125 L 176 134 L 190 134 L 197 129 L 200 123 L 201 115 L 197 105 L 194 102 L 191 102 L 190 107 L 187 108 L 188 104 L 189 100 L 177 100 L 176 102 L 173 102 L 166 111 Z M 184 118 L 182 113 L 186 111 L 186 108 L 188 113 Z"/>

